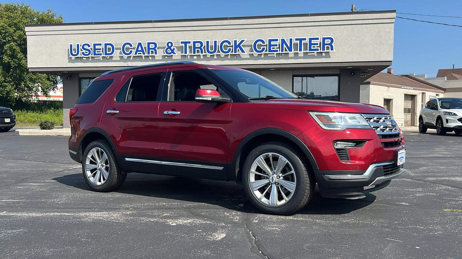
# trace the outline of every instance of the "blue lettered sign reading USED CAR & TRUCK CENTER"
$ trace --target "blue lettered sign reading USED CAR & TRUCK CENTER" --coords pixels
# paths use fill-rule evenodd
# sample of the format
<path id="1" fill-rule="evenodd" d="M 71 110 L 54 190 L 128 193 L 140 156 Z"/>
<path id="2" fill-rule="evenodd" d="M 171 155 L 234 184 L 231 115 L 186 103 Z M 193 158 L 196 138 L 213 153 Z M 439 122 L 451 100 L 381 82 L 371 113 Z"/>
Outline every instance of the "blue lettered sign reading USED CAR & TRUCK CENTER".
<path id="1" fill-rule="evenodd" d="M 263 54 L 263 53 L 316 53 L 333 52 L 334 37 L 294 37 L 249 40 L 166 41 L 159 47 L 156 41 L 124 42 L 120 52 L 112 42 L 70 43 L 70 57 L 152 56 L 152 55 L 215 55 L 215 54 Z"/>

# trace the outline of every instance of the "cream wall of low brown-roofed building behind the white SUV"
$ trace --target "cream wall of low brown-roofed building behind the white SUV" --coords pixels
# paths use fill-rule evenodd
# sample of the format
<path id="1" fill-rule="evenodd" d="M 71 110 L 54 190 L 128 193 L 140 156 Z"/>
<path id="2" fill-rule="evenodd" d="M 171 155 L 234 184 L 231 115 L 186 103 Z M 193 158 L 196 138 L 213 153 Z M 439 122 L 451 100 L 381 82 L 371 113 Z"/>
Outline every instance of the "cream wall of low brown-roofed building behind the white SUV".
<path id="1" fill-rule="evenodd" d="M 415 126 L 419 121 L 419 113 L 422 107 L 422 93 L 425 93 L 424 105 L 430 100 L 430 96 L 439 94 L 443 97 L 444 94 L 431 91 L 421 91 L 406 88 L 387 87 L 374 84 L 361 85 L 361 102 L 383 106 L 383 99 L 391 99 L 391 115 L 400 127 L 404 126 L 404 94 L 415 95 Z"/>

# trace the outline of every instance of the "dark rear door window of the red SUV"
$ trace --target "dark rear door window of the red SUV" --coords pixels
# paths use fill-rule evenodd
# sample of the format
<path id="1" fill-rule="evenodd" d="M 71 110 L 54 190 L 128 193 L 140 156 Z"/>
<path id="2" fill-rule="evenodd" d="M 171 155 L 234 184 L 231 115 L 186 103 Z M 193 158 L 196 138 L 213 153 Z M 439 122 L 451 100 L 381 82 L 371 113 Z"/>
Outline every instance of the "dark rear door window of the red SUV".
<path id="1" fill-rule="evenodd" d="M 132 77 L 117 94 L 116 101 L 157 101 L 161 79 L 161 73 Z"/>

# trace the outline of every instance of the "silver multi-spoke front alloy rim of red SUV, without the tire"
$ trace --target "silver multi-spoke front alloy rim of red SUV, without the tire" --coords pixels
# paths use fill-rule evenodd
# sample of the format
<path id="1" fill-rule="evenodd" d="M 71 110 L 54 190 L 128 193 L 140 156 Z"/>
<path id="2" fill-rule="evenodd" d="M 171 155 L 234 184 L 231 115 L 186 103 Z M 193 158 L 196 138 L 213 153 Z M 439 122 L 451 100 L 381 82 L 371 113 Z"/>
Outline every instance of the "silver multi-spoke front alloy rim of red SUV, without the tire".
<path id="1" fill-rule="evenodd" d="M 292 164 L 277 153 L 264 153 L 252 163 L 249 183 L 256 199 L 267 206 L 280 206 L 290 200 L 297 177 Z"/>

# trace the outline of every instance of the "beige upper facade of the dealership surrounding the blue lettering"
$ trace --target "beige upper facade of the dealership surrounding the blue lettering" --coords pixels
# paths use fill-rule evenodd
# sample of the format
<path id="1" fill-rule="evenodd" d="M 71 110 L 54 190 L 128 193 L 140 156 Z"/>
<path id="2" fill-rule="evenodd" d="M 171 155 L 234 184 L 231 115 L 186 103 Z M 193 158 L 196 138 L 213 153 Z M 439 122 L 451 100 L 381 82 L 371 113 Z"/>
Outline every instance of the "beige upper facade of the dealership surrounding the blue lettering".
<path id="1" fill-rule="evenodd" d="M 395 12 L 351 12 L 279 18 L 230 18 L 224 20 L 163 21 L 149 23 L 65 24 L 26 27 L 28 66 L 36 68 L 126 67 L 176 60 L 211 65 L 314 64 L 393 60 Z M 248 39 L 243 47 L 250 52 L 257 38 L 333 36 L 334 52 L 277 54 L 162 55 L 166 41 L 177 50 L 183 40 Z M 116 54 L 125 41 L 157 41 L 159 55 L 72 58 L 70 43 L 112 42 Z M 305 43 L 306 45 L 306 43 Z M 306 47 L 305 47 L 306 49 Z M 56 71 L 56 70 L 55 70 Z"/>

